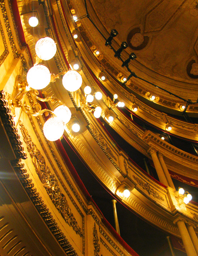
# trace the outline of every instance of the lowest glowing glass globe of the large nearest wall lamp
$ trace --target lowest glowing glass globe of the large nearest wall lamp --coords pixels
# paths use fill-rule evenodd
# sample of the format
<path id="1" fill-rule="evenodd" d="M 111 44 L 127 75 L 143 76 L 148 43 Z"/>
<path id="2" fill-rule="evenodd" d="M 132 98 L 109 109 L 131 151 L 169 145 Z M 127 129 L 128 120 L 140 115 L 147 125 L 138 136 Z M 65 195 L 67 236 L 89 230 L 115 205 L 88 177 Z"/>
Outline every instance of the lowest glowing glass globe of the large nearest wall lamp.
<path id="1" fill-rule="evenodd" d="M 56 141 L 64 133 L 64 124 L 58 117 L 50 117 L 43 125 L 43 133 L 47 140 Z"/>

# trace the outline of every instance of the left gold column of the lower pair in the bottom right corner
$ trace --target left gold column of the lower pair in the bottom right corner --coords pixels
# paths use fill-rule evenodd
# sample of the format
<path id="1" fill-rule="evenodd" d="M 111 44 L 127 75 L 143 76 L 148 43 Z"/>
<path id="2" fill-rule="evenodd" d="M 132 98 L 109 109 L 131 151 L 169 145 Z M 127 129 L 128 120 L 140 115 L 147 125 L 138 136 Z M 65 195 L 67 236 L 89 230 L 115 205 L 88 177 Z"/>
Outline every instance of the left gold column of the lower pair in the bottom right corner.
<path id="1" fill-rule="evenodd" d="M 188 234 L 188 230 L 187 230 L 186 225 L 185 225 L 185 219 L 179 217 L 176 220 L 174 220 L 173 223 L 174 224 L 177 223 L 177 225 L 178 225 L 179 232 L 180 232 L 180 235 L 181 235 L 181 239 L 183 241 L 183 244 L 184 244 L 187 255 L 188 256 L 197 256 L 197 253 L 195 251 L 195 248 L 193 246 L 193 243 L 190 239 L 190 236 Z"/>

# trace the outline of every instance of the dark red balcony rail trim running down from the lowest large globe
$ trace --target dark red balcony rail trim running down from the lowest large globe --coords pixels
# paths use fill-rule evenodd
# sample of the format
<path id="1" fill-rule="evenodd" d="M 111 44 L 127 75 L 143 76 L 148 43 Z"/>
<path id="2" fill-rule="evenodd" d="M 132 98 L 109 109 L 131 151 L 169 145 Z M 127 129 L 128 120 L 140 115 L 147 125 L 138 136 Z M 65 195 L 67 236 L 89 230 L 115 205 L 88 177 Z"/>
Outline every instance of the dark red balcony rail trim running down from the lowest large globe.
<path id="1" fill-rule="evenodd" d="M 93 201 L 92 197 L 89 195 L 89 192 L 87 191 L 86 187 L 84 186 L 82 180 L 80 179 L 77 171 L 75 170 L 72 162 L 70 161 L 62 143 L 60 140 L 55 141 L 56 145 L 60 151 L 61 156 L 63 157 L 66 165 L 68 166 L 72 176 L 74 177 L 75 181 L 77 182 L 80 190 L 83 192 L 84 196 L 87 198 L 87 200 L 90 202 L 92 201 L 93 204 L 96 206 L 97 210 L 100 212 L 100 214 L 102 215 L 102 223 L 107 227 L 107 229 L 110 230 L 110 232 L 112 233 L 112 235 L 118 240 L 118 242 L 132 255 L 134 256 L 139 256 L 138 253 L 136 253 L 125 241 L 123 238 L 121 238 L 121 236 L 116 232 L 116 230 L 111 226 L 111 224 L 105 219 L 105 217 L 103 216 L 101 210 L 98 208 L 98 206 L 96 205 L 95 201 Z"/>

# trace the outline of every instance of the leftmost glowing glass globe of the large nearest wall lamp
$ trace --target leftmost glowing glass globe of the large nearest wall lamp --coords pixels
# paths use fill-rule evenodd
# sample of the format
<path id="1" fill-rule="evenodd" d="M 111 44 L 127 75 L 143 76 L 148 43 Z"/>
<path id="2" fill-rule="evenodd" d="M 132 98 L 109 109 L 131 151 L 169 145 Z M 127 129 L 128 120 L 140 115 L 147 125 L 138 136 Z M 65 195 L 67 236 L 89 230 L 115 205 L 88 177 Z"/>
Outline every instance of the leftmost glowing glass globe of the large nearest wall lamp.
<path id="1" fill-rule="evenodd" d="M 27 73 L 27 82 L 36 90 L 45 88 L 51 80 L 50 70 L 44 65 L 35 65 Z"/>

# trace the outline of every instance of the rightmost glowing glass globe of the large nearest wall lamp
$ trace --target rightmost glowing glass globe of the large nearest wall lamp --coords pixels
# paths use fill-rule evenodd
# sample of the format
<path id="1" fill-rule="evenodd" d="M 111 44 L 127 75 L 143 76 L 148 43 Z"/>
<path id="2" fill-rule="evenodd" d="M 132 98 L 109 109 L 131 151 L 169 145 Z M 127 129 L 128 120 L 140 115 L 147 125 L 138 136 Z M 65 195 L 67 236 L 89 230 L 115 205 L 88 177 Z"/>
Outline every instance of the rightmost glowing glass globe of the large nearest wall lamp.
<path id="1" fill-rule="evenodd" d="M 82 85 L 82 77 L 75 70 L 68 70 L 63 76 L 63 86 L 70 92 L 77 91 Z"/>

